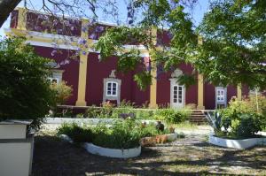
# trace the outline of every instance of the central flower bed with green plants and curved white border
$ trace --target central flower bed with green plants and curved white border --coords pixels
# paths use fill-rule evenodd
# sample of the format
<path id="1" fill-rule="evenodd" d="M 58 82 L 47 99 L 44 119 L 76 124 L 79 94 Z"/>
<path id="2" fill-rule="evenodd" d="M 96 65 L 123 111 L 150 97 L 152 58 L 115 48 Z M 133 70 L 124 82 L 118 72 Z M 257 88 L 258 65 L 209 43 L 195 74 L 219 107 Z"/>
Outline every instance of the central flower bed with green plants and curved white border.
<path id="1" fill-rule="evenodd" d="M 105 157 L 129 158 L 141 153 L 141 145 L 173 142 L 175 129 L 164 128 L 160 122 L 146 124 L 135 119 L 119 119 L 112 125 L 98 123 L 96 126 L 84 124 L 62 124 L 58 128 L 59 138 L 81 144 L 91 154 Z"/>

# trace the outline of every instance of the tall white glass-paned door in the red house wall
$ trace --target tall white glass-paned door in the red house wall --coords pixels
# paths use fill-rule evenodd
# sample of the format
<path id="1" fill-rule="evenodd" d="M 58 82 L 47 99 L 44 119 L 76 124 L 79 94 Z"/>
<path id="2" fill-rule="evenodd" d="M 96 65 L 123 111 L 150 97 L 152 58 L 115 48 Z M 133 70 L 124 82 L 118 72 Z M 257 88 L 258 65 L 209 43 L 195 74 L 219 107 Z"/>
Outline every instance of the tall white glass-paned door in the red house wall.
<path id="1" fill-rule="evenodd" d="M 171 106 L 173 108 L 184 108 L 184 86 L 173 85 L 171 90 Z"/>

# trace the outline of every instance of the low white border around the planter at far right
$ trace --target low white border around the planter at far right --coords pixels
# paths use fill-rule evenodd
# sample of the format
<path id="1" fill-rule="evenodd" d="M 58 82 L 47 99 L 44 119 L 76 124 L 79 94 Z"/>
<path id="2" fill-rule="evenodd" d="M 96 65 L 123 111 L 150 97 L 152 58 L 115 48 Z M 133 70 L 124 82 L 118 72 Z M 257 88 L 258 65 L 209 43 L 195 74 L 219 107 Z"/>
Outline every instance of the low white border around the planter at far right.
<path id="1" fill-rule="evenodd" d="M 208 142 L 226 148 L 232 149 L 248 149 L 255 145 L 266 145 L 266 137 L 263 138 L 249 138 L 244 140 L 232 140 L 216 137 L 214 134 L 210 134 Z"/>

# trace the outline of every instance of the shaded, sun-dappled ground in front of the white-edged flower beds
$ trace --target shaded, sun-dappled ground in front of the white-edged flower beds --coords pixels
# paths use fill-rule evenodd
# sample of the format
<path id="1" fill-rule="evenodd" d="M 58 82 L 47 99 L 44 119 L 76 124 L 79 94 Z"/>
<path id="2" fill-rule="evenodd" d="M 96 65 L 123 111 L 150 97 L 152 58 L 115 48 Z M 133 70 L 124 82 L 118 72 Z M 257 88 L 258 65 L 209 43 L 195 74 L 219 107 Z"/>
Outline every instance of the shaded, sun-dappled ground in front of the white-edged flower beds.
<path id="1" fill-rule="evenodd" d="M 203 134 L 143 148 L 140 157 L 113 159 L 91 155 L 62 142 L 47 129 L 35 137 L 33 175 L 266 175 L 266 147 L 224 149 Z"/>

